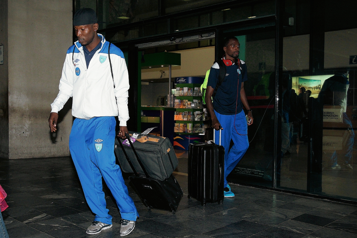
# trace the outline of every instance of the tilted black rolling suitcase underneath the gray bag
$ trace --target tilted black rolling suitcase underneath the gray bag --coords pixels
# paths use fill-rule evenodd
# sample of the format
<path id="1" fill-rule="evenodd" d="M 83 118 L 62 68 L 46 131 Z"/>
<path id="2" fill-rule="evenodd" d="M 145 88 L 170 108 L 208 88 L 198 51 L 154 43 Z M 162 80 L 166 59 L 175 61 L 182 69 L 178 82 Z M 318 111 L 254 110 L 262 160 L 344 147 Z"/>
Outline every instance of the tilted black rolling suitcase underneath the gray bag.
<path id="1" fill-rule="evenodd" d="M 129 135 L 126 135 L 129 138 Z M 130 140 L 128 140 L 130 146 L 136 156 L 137 162 L 139 162 L 144 174 L 139 174 L 136 172 L 133 164 L 127 155 L 122 143 L 121 146 L 124 155 L 130 164 L 130 167 L 135 173 L 135 176 L 129 176 L 131 183 L 134 185 L 138 195 L 141 197 L 142 202 L 147 207 L 147 209 L 160 209 L 172 212 L 174 214 L 183 196 L 182 189 L 178 184 L 176 178 L 171 174 L 171 176 L 164 181 L 160 181 L 154 178 L 150 178 L 146 169 L 144 168 L 136 150 Z"/>

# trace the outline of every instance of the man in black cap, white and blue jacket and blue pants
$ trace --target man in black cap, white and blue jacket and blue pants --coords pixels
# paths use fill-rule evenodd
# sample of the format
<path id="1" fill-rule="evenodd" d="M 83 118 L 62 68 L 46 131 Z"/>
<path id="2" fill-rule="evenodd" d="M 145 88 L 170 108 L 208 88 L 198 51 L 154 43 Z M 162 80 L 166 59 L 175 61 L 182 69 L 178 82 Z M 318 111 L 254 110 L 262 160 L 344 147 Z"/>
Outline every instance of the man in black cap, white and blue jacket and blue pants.
<path id="1" fill-rule="evenodd" d="M 115 116 L 120 121 L 119 136 L 125 138 L 128 132 L 129 76 L 124 55 L 97 34 L 93 9 L 78 10 L 73 26 L 78 41 L 67 51 L 59 93 L 51 104 L 49 126 L 51 132 L 56 131 L 58 111 L 73 97 L 72 115 L 76 119 L 70 134 L 70 152 L 86 201 L 96 214 L 86 233 L 97 234 L 112 227 L 102 191 L 103 177 L 120 210 L 120 236 L 126 236 L 134 230 L 139 214 L 114 156 Z"/>

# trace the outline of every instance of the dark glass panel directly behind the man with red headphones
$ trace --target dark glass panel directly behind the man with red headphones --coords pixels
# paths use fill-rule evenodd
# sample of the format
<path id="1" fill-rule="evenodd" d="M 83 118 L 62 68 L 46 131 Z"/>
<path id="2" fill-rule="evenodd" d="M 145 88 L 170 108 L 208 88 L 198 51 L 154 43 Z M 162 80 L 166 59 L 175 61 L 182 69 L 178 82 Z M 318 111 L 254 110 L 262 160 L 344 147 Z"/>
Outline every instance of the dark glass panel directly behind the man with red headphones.
<path id="1" fill-rule="evenodd" d="M 275 98 L 275 26 L 230 32 L 237 36 L 240 59 L 248 69 L 244 83 L 254 123 L 248 126 L 249 148 L 228 181 L 272 186 Z M 244 50 L 245 49 L 245 50 Z"/>

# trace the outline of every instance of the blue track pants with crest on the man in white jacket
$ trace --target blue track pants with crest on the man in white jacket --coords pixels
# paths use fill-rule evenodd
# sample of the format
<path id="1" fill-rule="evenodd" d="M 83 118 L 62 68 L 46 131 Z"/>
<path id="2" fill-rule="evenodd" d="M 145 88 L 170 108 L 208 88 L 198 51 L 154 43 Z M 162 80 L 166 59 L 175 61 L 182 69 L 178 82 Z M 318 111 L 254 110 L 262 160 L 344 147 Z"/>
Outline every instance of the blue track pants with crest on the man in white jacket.
<path id="1" fill-rule="evenodd" d="M 122 219 L 136 221 L 139 214 L 124 184 L 119 165 L 115 164 L 114 117 L 76 118 L 69 147 L 86 201 L 96 214 L 94 221 L 112 224 L 102 190 L 102 177 L 113 194 Z"/>

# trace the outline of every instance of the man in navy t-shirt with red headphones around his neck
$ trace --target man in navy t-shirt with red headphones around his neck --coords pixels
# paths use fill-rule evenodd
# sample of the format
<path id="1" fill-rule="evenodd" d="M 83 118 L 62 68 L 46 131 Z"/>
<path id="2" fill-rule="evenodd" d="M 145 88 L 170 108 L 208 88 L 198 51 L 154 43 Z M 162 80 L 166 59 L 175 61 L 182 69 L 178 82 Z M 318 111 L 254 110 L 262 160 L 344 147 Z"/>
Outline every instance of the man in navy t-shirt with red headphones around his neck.
<path id="1" fill-rule="evenodd" d="M 252 125 L 253 116 L 244 91 L 244 82 L 248 80 L 247 66 L 244 61 L 238 59 L 240 48 L 238 39 L 233 36 L 227 37 L 223 46 L 226 55 L 222 61 L 225 63 L 226 76 L 218 87 L 212 103 L 211 97 L 218 83 L 220 67 L 217 62 L 211 67 L 205 101 L 212 118 L 213 128 L 219 130 L 219 127 L 222 126 L 221 145 L 225 148 L 224 196 L 234 197 L 234 193 L 227 183 L 227 176 L 248 149 L 248 125 Z M 243 106 L 248 111 L 248 123 Z M 215 139 L 219 140 L 218 133 L 216 133 Z M 231 140 L 234 145 L 229 150 Z"/>

